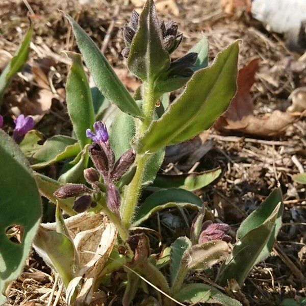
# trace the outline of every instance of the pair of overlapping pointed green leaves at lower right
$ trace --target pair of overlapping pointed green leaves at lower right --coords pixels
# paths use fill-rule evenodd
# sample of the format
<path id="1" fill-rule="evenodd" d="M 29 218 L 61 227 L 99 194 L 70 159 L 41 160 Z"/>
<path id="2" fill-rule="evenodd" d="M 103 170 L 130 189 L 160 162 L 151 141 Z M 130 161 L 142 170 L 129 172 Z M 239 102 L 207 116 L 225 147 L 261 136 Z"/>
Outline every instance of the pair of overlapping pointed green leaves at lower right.
<path id="1" fill-rule="evenodd" d="M 220 284 L 226 285 L 227 279 L 234 278 L 242 286 L 252 267 L 269 255 L 281 226 L 283 207 L 281 192 L 276 189 L 241 224 L 237 233 L 239 241 L 220 268 Z"/>

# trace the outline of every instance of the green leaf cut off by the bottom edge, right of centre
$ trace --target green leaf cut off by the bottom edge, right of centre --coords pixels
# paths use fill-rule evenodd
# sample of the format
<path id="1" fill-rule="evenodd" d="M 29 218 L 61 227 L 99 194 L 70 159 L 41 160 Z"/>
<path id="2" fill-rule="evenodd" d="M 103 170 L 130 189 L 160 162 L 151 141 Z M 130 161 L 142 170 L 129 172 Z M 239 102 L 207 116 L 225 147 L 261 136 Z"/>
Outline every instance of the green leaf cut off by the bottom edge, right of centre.
<path id="1" fill-rule="evenodd" d="M 215 287 L 206 284 L 188 284 L 184 285 L 174 298 L 184 303 L 197 304 L 202 303 L 218 303 L 224 306 L 242 306 L 242 304 L 234 298 L 220 292 Z"/>

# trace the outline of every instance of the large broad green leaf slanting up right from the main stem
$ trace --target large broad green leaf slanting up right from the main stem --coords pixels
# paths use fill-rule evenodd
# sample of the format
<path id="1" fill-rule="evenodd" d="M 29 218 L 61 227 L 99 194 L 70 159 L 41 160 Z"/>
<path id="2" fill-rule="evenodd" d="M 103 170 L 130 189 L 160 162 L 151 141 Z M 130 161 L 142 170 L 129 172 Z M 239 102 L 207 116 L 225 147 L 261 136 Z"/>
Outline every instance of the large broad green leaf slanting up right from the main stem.
<path id="1" fill-rule="evenodd" d="M 238 44 L 235 41 L 217 55 L 212 66 L 193 74 L 182 95 L 136 142 L 139 154 L 193 138 L 226 110 L 236 92 Z"/>

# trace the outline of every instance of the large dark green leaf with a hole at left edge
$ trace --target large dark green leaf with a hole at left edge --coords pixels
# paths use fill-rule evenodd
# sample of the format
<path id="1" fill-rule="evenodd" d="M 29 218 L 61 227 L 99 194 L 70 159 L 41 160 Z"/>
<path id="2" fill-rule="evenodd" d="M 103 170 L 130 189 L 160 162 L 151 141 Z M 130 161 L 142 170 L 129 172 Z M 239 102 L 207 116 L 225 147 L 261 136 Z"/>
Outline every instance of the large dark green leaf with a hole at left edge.
<path id="1" fill-rule="evenodd" d="M 18 145 L 0 130 L 0 304 L 4 292 L 21 273 L 41 217 L 41 201 L 30 165 Z M 20 225 L 17 244 L 6 236 L 8 227 Z"/>

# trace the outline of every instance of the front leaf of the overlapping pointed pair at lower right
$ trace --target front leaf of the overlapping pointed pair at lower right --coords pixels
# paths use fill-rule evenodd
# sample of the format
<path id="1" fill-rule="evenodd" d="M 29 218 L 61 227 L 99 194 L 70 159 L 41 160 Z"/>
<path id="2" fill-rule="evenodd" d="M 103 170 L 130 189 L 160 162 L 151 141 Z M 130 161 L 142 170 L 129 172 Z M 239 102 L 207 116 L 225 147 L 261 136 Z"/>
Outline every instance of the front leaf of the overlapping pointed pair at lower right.
<path id="1" fill-rule="evenodd" d="M 222 264 L 218 276 L 218 282 L 227 284 L 227 279 L 236 279 L 239 286 L 243 285 L 254 264 L 258 262 L 263 250 L 267 247 L 271 235 L 275 233 L 275 222 L 279 211 L 282 210 L 282 203 L 279 202 L 269 218 L 259 227 L 249 231 L 234 246 L 231 256 Z M 247 258 L 247 260 L 245 260 Z"/>

